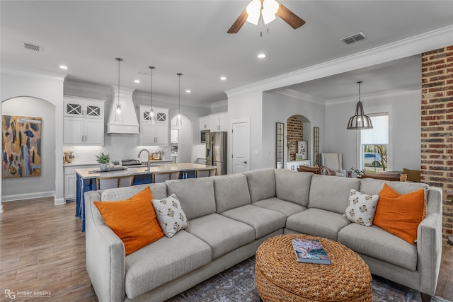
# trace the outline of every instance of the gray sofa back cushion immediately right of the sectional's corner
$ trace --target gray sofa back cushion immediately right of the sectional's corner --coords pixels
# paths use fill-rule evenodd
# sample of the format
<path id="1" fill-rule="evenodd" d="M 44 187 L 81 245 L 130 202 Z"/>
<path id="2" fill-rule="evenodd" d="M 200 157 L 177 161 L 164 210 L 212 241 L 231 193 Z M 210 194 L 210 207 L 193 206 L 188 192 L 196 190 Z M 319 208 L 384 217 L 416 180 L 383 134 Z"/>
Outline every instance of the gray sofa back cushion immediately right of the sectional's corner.
<path id="1" fill-rule="evenodd" d="M 275 170 L 277 198 L 306 207 L 309 204 L 311 176 L 313 173 Z"/>

